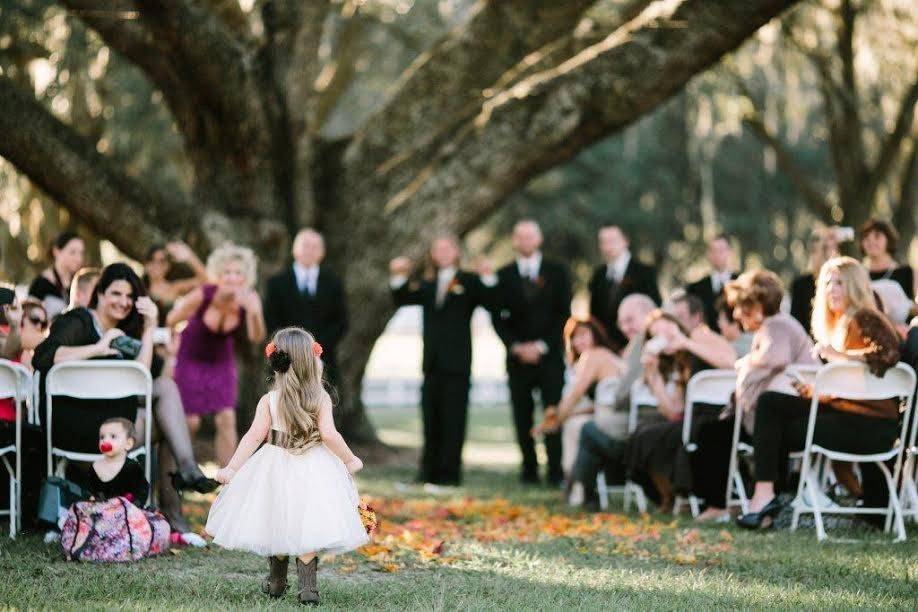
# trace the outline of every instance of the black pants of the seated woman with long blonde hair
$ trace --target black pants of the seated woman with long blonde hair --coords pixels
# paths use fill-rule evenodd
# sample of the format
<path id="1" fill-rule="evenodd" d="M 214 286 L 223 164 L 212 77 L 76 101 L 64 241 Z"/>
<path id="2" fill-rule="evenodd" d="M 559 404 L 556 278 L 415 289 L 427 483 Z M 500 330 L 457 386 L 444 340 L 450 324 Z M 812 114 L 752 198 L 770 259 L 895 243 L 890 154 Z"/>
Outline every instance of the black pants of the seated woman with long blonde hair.
<path id="1" fill-rule="evenodd" d="M 783 486 L 787 482 L 788 455 L 803 450 L 806 443 L 810 400 L 775 391 L 759 396 L 755 413 L 755 479 Z M 878 453 L 889 450 L 898 433 L 898 423 L 820 408 L 816 416 L 813 443 L 848 453 Z M 861 464 L 864 503 L 884 506 L 888 502 L 886 483 L 879 468 Z"/>

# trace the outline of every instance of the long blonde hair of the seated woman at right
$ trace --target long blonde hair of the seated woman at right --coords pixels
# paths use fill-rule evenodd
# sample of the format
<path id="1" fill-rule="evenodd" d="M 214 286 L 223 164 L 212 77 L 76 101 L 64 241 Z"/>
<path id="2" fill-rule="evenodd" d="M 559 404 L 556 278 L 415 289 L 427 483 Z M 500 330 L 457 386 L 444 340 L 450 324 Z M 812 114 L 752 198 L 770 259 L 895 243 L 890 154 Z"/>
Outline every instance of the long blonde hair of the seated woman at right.
<path id="1" fill-rule="evenodd" d="M 848 307 L 841 317 L 829 311 L 827 298 L 829 277 L 836 271 L 841 277 L 845 295 L 848 296 Z M 833 344 L 832 341 L 836 339 L 835 331 L 847 329 L 851 316 L 863 308 L 877 310 L 877 303 L 870 289 L 870 277 L 864 266 L 852 257 L 834 257 L 822 264 L 819 279 L 816 281 L 816 297 L 813 298 L 813 338 L 817 342 Z"/>

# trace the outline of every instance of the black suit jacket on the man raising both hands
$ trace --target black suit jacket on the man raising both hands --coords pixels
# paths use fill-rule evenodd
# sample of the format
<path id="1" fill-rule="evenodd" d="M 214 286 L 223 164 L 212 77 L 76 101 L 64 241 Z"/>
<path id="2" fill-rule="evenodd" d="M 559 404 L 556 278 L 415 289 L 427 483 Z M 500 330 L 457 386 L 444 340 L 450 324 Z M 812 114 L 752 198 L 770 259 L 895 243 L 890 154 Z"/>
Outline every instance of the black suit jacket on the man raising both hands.
<path id="1" fill-rule="evenodd" d="M 424 322 L 424 373 L 470 376 L 472 313 L 494 303 L 496 287 L 487 287 L 470 272 L 457 270 L 443 304 L 437 306 L 437 281 L 408 279 L 392 290 L 396 306 L 420 305 Z"/>

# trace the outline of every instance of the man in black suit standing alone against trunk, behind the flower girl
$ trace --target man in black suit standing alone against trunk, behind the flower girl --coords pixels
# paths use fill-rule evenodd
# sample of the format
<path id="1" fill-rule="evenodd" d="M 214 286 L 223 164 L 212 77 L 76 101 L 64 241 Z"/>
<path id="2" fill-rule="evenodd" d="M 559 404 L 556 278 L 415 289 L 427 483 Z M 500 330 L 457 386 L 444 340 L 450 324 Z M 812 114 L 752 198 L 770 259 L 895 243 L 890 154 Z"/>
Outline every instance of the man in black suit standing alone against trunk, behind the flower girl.
<path id="1" fill-rule="evenodd" d="M 347 300 L 341 279 L 322 264 L 325 241 L 313 229 L 293 240 L 293 265 L 268 280 L 265 323 L 268 333 L 299 326 L 322 345 L 329 382 L 338 386 L 336 348 L 347 332 Z"/>

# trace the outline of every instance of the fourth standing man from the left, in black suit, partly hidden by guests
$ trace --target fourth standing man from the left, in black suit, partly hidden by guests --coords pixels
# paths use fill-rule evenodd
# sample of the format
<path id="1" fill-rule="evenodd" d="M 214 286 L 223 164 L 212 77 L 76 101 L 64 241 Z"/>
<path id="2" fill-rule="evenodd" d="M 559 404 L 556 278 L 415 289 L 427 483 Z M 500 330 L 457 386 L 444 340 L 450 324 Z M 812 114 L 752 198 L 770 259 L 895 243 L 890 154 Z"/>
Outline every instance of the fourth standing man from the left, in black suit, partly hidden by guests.
<path id="1" fill-rule="evenodd" d="M 590 278 L 590 314 L 609 330 L 609 339 L 617 350 L 628 344 L 618 328 L 618 307 L 633 293 L 642 293 L 660 305 L 657 271 L 632 258 L 628 236 L 617 225 L 599 229 L 599 251 L 605 263 L 596 267 Z"/>

